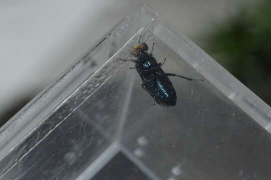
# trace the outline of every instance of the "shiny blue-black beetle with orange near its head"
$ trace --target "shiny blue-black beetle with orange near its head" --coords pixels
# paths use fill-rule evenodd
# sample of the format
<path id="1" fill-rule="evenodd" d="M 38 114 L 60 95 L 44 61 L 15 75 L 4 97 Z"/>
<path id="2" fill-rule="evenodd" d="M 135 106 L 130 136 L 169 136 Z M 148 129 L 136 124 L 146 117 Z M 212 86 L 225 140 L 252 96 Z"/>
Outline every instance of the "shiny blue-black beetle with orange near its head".
<path id="1" fill-rule="evenodd" d="M 152 43 L 151 52 L 147 53 L 148 45 L 145 42 L 140 43 L 140 39 L 138 45 L 131 51 L 131 55 L 137 57 L 137 59 L 118 59 L 135 62 L 135 67 L 130 67 L 130 69 L 135 68 L 137 70 L 142 79 L 141 86 L 153 97 L 154 105 L 156 101 L 162 106 L 175 106 L 177 101 L 176 91 L 168 76 L 178 76 L 187 80 L 202 79 L 192 79 L 182 75 L 176 75 L 175 73 L 165 73 L 161 67 L 165 63 L 166 58 L 164 58 L 163 63 L 158 63 L 152 56 L 154 42 Z"/>

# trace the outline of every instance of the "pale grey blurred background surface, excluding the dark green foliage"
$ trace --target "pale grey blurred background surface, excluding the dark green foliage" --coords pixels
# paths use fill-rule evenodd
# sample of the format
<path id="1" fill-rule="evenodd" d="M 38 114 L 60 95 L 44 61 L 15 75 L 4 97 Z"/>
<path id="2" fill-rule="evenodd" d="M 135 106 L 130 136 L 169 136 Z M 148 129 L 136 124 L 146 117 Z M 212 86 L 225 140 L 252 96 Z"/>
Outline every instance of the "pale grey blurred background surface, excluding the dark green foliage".
<path id="1" fill-rule="evenodd" d="M 16 104 L 56 79 L 139 2 L 150 4 L 180 32 L 193 37 L 251 1 L 2 0 L 0 121 L 9 118 L 5 113 Z"/>

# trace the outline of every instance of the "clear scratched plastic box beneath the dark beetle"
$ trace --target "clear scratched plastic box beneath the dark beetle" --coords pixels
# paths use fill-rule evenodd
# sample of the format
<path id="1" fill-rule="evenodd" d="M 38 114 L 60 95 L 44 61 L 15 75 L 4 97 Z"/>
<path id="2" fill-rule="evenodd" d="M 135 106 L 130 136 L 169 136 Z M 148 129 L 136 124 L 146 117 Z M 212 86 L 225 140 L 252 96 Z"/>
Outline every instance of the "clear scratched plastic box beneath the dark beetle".
<path id="1" fill-rule="evenodd" d="M 170 77 L 153 105 L 130 51 Z M 271 109 L 148 5 L 113 27 L 0 131 L 0 179 L 270 179 Z"/>

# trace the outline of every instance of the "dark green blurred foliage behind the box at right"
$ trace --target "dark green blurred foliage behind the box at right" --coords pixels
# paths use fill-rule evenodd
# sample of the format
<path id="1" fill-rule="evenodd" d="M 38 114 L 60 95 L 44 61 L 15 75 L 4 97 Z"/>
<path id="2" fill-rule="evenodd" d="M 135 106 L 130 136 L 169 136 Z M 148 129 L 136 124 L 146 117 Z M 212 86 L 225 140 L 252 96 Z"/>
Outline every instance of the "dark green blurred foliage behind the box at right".
<path id="1" fill-rule="evenodd" d="M 271 105 L 271 1 L 242 8 L 204 36 L 204 50 Z"/>

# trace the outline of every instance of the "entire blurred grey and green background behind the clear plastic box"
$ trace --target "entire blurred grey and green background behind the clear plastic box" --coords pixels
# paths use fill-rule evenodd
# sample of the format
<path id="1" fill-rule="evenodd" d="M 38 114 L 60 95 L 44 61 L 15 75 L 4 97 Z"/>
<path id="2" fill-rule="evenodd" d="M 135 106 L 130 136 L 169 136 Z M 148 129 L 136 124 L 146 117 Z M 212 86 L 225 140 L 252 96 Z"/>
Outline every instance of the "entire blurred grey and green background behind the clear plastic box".
<path id="1" fill-rule="evenodd" d="M 139 2 L 271 104 L 268 0 L 1 0 L 0 126 Z"/>

